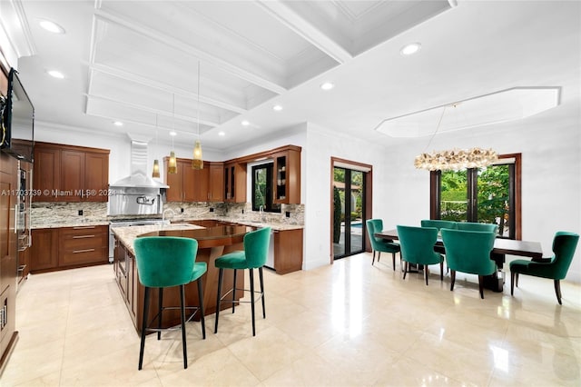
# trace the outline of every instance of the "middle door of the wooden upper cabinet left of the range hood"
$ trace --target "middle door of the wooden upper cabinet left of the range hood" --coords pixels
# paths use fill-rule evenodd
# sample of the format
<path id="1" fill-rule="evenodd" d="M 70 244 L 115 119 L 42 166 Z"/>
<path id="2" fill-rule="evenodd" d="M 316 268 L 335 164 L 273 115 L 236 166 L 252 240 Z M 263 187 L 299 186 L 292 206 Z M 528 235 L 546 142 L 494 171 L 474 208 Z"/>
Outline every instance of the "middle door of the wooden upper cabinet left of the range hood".
<path id="1" fill-rule="evenodd" d="M 61 151 L 61 202 L 80 202 L 84 191 L 84 152 Z"/>

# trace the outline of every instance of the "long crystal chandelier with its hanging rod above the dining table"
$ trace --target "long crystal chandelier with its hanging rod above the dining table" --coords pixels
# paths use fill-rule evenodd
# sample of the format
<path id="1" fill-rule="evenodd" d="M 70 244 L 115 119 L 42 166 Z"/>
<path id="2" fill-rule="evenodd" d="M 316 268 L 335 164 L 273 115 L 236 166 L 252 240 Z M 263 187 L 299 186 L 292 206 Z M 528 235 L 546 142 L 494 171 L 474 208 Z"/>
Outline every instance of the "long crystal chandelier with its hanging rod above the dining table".
<path id="1" fill-rule="evenodd" d="M 445 106 L 439 117 L 438 126 L 434 134 L 429 139 L 426 149 L 431 144 L 434 136 L 438 134 L 438 129 L 442 123 L 442 118 L 448 107 L 457 108 L 458 104 Z M 478 147 L 470 149 L 451 149 L 447 151 L 432 152 L 428 154 L 423 152 L 416 156 L 414 166 L 418 169 L 427 169 L 428 171 L 460 171 L 467 168 L 482 168 L 494 164 L 498 160 L 498 155 L 492 149 L 482 149 Z"/>

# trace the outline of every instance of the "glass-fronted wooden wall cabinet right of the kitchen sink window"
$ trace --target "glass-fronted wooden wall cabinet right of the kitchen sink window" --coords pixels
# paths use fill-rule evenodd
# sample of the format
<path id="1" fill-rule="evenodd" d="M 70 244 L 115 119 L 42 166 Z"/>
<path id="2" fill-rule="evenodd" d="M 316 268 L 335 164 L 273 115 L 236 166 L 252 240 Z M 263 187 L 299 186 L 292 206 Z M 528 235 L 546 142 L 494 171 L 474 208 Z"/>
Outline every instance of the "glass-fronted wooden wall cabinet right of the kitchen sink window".
<path id="1" fill-rule="evenodd" d="M 273 203 L 300 204 L 300 148 L 273 154 Z"/>

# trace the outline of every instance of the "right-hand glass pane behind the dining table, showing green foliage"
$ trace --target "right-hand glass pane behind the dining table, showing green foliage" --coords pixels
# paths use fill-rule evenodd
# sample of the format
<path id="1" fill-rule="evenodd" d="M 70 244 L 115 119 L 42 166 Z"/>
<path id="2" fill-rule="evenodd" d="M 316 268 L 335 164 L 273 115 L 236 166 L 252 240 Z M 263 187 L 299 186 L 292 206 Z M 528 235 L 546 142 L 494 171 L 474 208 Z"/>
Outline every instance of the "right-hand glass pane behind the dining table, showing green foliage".
<path id="1" fill-rule="evenodd" d="M 491 165 L 478 171 L 478 222 L 498 224 L 498 234 L 509 236 L 509 165 Z"/>

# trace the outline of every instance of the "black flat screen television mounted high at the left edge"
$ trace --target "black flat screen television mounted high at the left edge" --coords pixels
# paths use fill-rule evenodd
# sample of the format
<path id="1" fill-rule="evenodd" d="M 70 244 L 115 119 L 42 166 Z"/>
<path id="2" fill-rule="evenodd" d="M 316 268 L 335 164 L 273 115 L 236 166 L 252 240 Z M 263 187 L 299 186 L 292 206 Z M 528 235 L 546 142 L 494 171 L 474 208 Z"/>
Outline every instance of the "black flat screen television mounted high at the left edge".
<path id="1" fill-rule="evenodd" d="M 8 93 L 3 96 L 0 109 L 0 149 L 18 159 L 33 162 L 34 106 L 14 68 L 8 74 Z"/>

